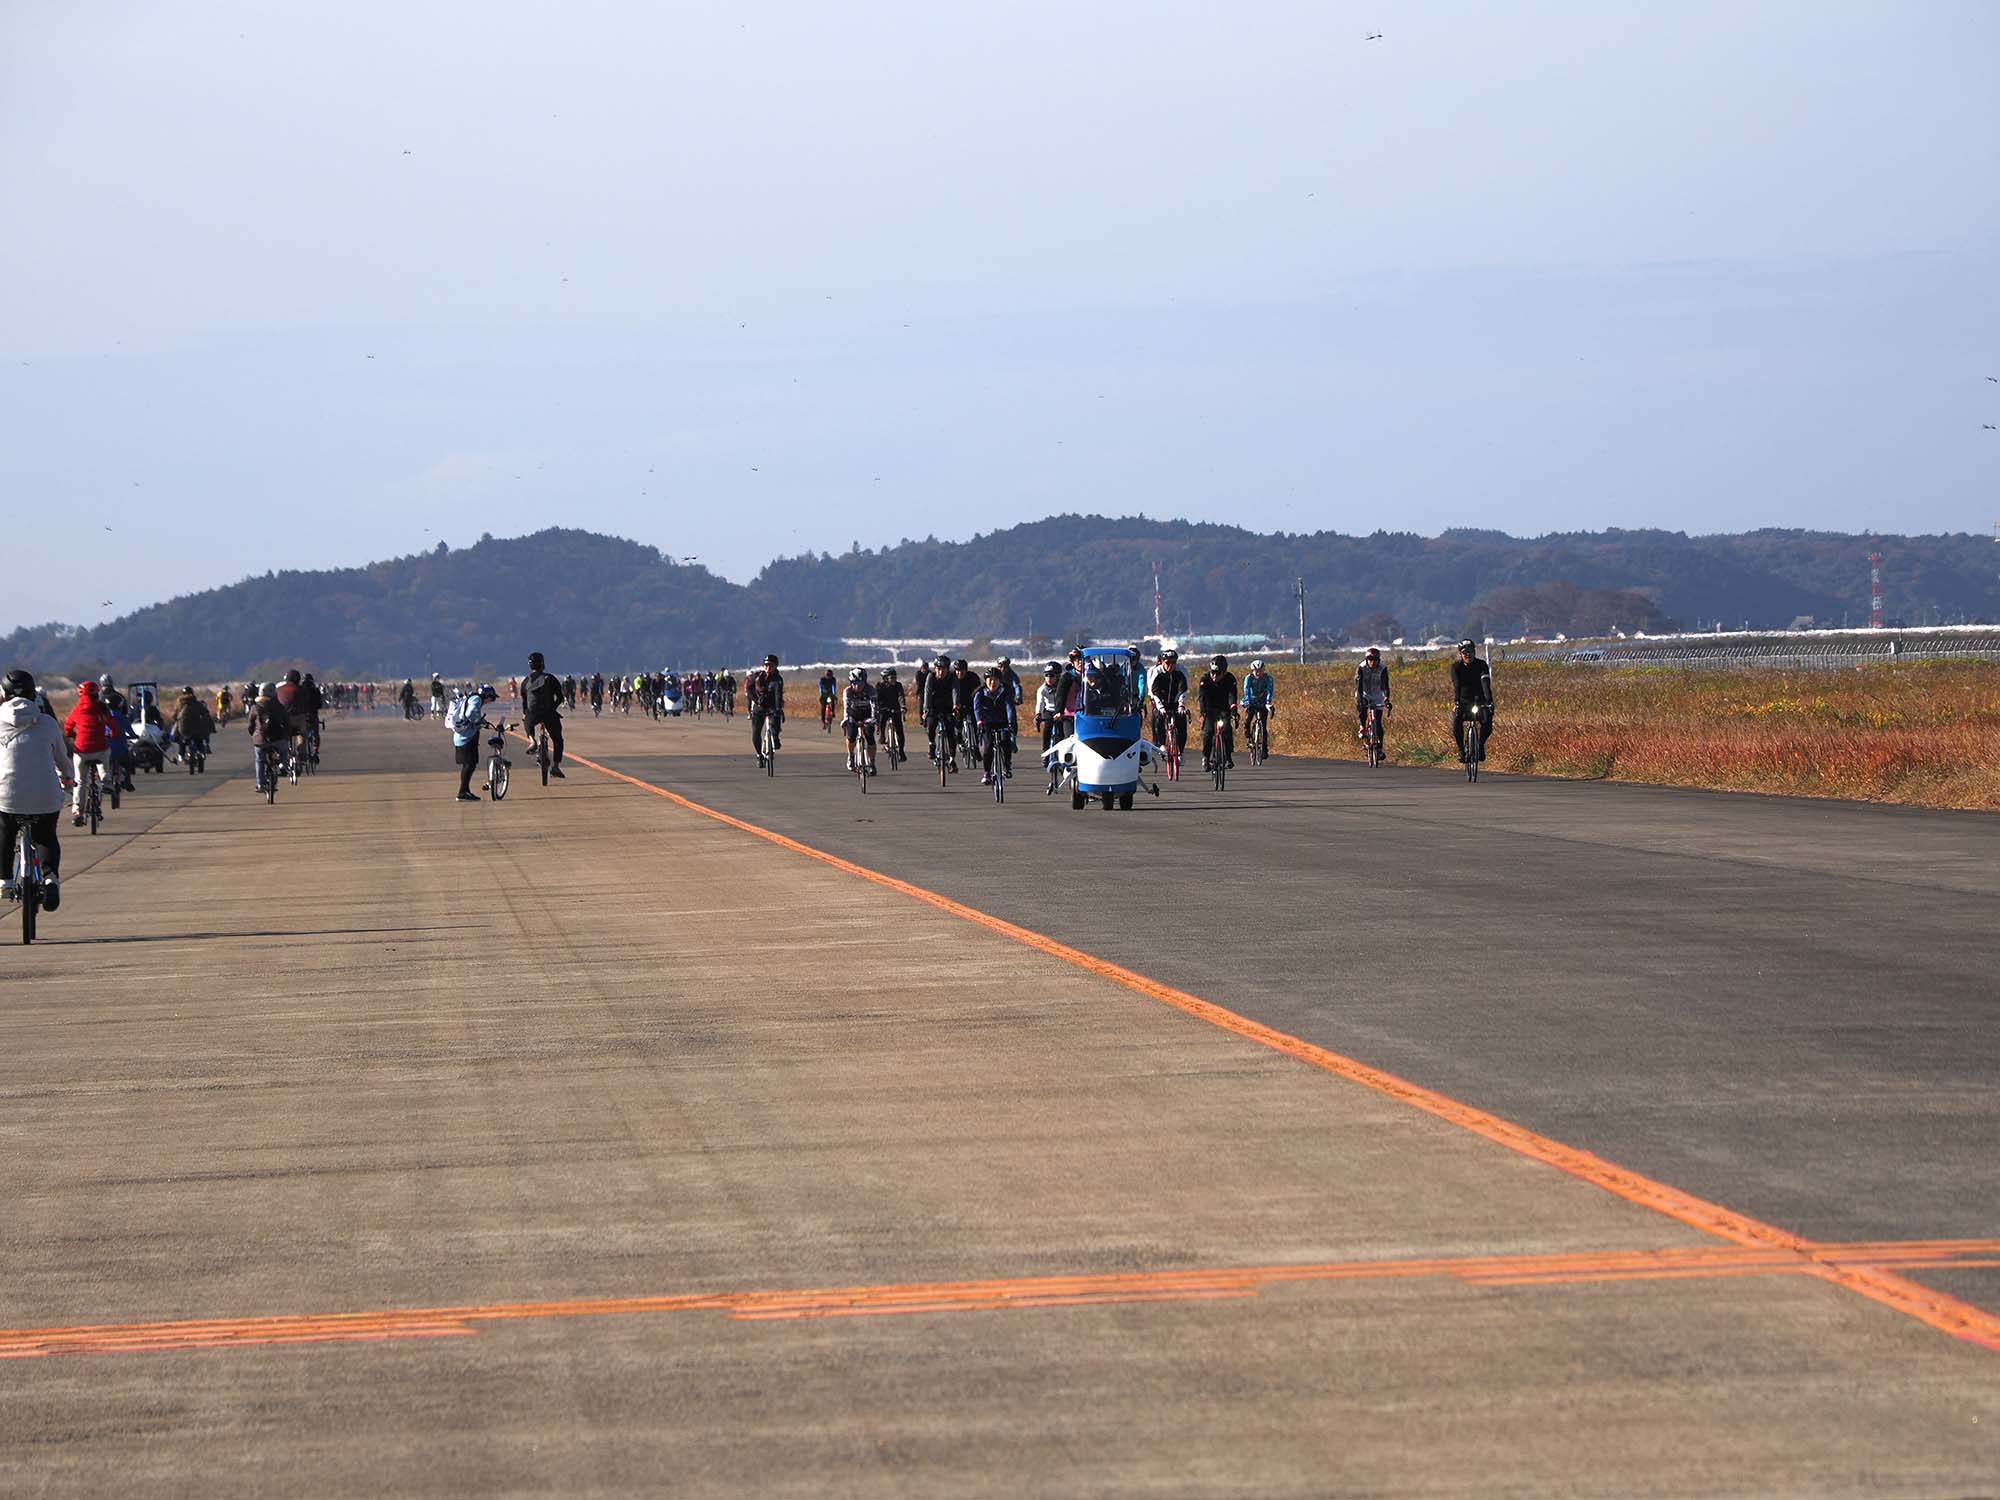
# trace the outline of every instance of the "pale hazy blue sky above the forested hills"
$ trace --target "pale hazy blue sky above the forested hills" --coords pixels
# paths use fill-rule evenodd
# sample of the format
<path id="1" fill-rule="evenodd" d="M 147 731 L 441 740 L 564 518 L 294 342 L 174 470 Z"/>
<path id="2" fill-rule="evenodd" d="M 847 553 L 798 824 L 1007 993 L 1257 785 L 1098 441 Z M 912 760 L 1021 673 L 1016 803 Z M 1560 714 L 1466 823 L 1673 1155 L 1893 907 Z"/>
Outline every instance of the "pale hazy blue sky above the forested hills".
<path id="1" fill-rule="evenodd" d="M 550 524 L 1986 532 L 1994 78 L 1988 0 L 0 0 L 0 630 Z"/>

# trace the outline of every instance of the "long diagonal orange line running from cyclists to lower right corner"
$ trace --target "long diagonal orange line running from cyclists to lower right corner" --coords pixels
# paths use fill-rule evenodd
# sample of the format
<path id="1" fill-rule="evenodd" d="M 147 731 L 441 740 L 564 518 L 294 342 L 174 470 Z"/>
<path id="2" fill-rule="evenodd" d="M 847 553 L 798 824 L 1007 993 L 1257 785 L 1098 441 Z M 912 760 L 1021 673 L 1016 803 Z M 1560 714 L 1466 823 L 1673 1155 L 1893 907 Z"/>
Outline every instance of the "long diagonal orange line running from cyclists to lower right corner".
<path id="1" fill-rule="evenodd" d="M 926 906 L 934 906 L 940 912 L 948 912 L 950 916 L 974 922 L 986 928 L 988 932 L 1000 934 L 1002 938 L 1012 938 L 1014 942 L 1034 948 L 1036 952 L 1048 954 L 1050 958 L 1060 958 L 1062 962 L 1082 968 L 1090 974 L 1096 974 L 1098 978 L 1110 980 L 1112 984 L 1120 984 L 1126 990 L 1144 994 L 1150 1000 L 1174 1006 L 1176 1010 L 1196 1016 L 1198 1020 L 1206 1020 L 1210 1026 L 1234 1032 L 1244 1040 L 1256 1042 L 1258 1046 L 1266 1046 L 1274 1052 L 1282 1052 L 1288 1058 L 1296 1058 L 1298 1062 L 1330 1072 L 1336 1078 L 1346 1078 L 1352 1084 L 1362 1084 L 1364 1088 L 1372 1088 L 1378 1094 L 1386 1094 L 1388 1098 L 1394 1098 L 1416 1110 L 1424 1110 L 1426 1114 L 1432 1114 L 1440 1120 L 1448 1120 L 1450 1124 L 1462 1130 L 1470 1130 L 1472 1134 L 1484 1136 L 1486 1140 L 1506 1146 L 1508 1150 L 1518 1152 L 1530 1160 L 1554 1166 L 1558 1172 L 1568 1172 L 1570 1176 L 1580 1178 L 1596 1188 L 1602 1188 L 1604 1192 L 1616 1194 L 1628 1202 L 1634 1202 L 1642 1208 L 1650 1208 L 1656 1214 L 1664 1214 L 1682 1224 L 1698 1228 L 1706 1234 L 1730 1240 L 1732 1244 L 1788 1250 L 1790 1254 L 1802 1256 L 1806 1260 L 1810 1260 L 1818 1250 L 1818 1246 L 1812 1244 L 1810 1240 L 1792 1234 L 1790 1230 L 1782 1230 L 1776 1224 L 1766 1224 L 1758 1218 L 1750 1218 L 1748 1214 L 1738 1214 L 1734 1208 L 1724 1208 L 1722 1204 L 1708 1202 L 1706 1198 L 1696 1198 L 1690 1192 L 1682 1192 L 1680 1188 L 1668 1186 L 1666 1182 L 1656 1182 L 1654 1178 L 1648 1178 L 1640 1172 L 1632 1172 L 1628 1168 L 1618 1166 L 1616 1162 L 1608 1162 L 1602 1156 L 1580 1150 L 1576 1146 L 1566 1146 L 1564 1142 L 1552 1140 L 1550 1136 L 1536 1134 L 1534 1130 L 1518 1126 L 1512 1120 L 1504 1120 L 1498 1114 L 1490 1114 L 1472 1104 L 1450 1098 L 1448 1094 L 1424 1088 L 1422 1084 L 1412 1084 L 1408 1078 L 1398 1078 L 1396 1074 L 1386 1072 L 1382 1068 L 1372 1068 L 1366 1062 L 1348 1058 L 1340 1052 L 1332 1052 L 1330 1048 L 1324 1046 L 1316 1046 L 1314 1042 L 1306 1042 L 1304 1038 L 1290 1036 L 1288 1032 L 1280 1032 L 1274 1026 L 1264 1026 L 1262 1022 L 1254 1022 L 1248 1016 L 1238 1016 L 1234 1010 L 1226 1010 L 1224 1006 L 1218 1006 L 1210 1000 L 1202 1000 L 1200 996 L 1188 994 L 1186 990 L 1176 990 L 1170 984 L 1160 984 L 1158 980 L 1150 980 L 1144 974 L 1138 974 L 1136 970 L 1124 968 L 1122 964 L 1112 964 L 1106 958 L 1086 954 L 1080 948 L 1072 948 L 1066 942 L 1056 942 L 1054 938 L 1046 938 L 1040 932 L 1034 932 L 1032 928 L 1024 928 L 1016 922 L 1008 922 L 1006 918 L 992 916 L 990 912 L 982 912 L 976 906 L 966 906 L 964 902 L 952 900 L 950 896 L 942 896 L 934 890 L 926 890 L 924 886 L 916 886 L 908 880 L 898 880 L 896 876 L 882 874 L 880 870 L 870 870 L 868 866 L 856 864 L 854 860 L 846 860 L 838 854 L 828 854 L 826 850 L 814 848 L 812 844 L 802 844 L 800 840 L 790 838 L 788 834 L 780 834 L 772 828 L 762 828 L 744 818 L 736 818 L 718 808 L 710 808 L 702 802 L 682 796 L 680 792 L 670 792 L 664 786 L 654 786 L 648 780 L 642 780 L 638 776 L 628 776 L 622 770 L 598 764 L 596 760 L 588 760 L 586 756 L 566 756 L 566 760 L 574 760 L 580 766 L 588 766 L 590 770 L 626 782 L 628 786 L 636 786 L 638 790 L 650 792 L 652 796 L 666 798 L 674 806 L 686 808 L 688 812 L 698 812 L 704 818 L 714 818 L 716 822 L 746 832 L 752 838 L 762 838 L 764 842 L 776 844 L 778 848 L 790 850 L 794 854 L 804 854 L 808 860 L 830 864 L 832 868 L 858 876 L 860 880 L 868 880 L 876 886 L 884 886 L 902 896 L 910 896 L 912 900 L 924 902 Z M 1990 1350 L 2000 1352 L 2000 1316 L 1986 1312 L 1984 1308 L 1976 1308 L 1970 1302 L 1962 1302 L 1946 1292 L 1938 1292 L 1928 1286 L 1918 1286 L 1916 1282 L 1904 1280 L 1902 1276 L 1896 1276 L 1890 1270 L 1876 1270 L 1868 1266 L 1854 1266 L 1854 1268 L 1828 1266 L 1822 1270 L 1826 1280 L 1844 1286 L 1850 1292 L 1866 1296 L 1884 1306 L 1896 1308 L 1896 1312 L 1926 1322 L 1932 1328 L 1952 1334 L 1954 1338 L 1964 1338 L 1974 1344 L 1982 1344 Z"/>

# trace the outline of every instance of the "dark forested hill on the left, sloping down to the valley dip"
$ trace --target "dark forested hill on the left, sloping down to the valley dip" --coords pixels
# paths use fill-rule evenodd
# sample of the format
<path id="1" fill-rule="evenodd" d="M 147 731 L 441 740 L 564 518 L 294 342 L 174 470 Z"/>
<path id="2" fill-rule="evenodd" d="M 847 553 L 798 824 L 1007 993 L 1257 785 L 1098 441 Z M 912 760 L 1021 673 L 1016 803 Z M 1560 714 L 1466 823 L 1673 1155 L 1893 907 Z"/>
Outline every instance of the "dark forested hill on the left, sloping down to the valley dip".
<path id="1" fill-rule="evenodd" d="M 764 644 L 770 642 L 770 644 Z M 656 548 L 580 530 L 422 552 L 366 568 L 272 572 L 154 604 L 94 630 L 36 626 L 0 642 L 6 662 L 144 676 L 244 676 L 306 664 L 330 676 L 438 668 L 564 670 L 740 662 L 752 650 L 818 656 L 788 610 Z"/>

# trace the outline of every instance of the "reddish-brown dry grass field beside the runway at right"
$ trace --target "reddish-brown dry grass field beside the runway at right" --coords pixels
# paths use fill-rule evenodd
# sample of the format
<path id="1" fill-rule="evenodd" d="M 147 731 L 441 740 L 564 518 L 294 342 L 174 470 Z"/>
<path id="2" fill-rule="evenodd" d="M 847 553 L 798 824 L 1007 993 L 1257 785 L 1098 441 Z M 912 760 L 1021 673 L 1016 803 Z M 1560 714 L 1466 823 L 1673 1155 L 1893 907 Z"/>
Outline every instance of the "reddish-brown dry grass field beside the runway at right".
<path id="1" fill-rule="evenodd" d="M 1350 666 L 1276 666 L 1280 754 L 1360 760 Z M 1456 770 L 1444 662 L 1392 664 L 1388 756 Z M 2000 664 L 1496 662 L 1490 770 L 2000 810 Z"/>

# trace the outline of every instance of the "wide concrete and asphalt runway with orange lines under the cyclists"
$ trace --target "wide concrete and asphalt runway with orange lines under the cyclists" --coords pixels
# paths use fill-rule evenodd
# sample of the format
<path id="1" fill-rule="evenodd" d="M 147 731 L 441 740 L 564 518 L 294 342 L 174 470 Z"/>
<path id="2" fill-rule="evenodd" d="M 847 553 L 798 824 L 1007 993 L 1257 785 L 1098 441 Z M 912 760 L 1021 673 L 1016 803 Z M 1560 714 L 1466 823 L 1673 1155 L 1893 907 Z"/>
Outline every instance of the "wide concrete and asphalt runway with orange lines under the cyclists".
<path id="1" fill-rule="evenodd" d="M 2000 1490 L 2000 820 L 570 740 L 70 862 L 0 1492 Z"/>

